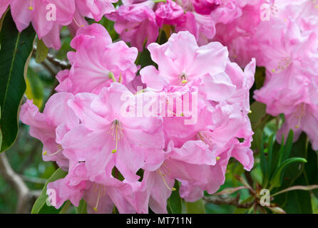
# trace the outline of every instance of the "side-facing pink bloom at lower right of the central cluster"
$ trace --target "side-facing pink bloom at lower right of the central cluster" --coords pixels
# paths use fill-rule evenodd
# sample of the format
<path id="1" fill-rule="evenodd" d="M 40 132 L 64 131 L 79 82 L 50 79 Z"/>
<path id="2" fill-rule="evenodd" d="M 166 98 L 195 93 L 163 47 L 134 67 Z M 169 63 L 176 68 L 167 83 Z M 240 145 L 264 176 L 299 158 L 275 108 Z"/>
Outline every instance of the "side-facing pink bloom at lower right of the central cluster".
<path id="1" fill-rule="evenodd" d="M 204 142 L 189 140 L 182 147 L 176 148 L 173 141 L 170 141 L 163 165 L 158 170 L 144 173 L 143 178 L 148 182 L 150 208 L 155 213 L 167 213 L 167 199 L 176 179 L 181 182 L 200 182 L 209 186 L 209 192 L 217 185 L 216 191 L 222 183 L 217 183 L 217 177 L 209 173 L 210 166 L 215 164 L 215 152 L 209 150 Z"/>

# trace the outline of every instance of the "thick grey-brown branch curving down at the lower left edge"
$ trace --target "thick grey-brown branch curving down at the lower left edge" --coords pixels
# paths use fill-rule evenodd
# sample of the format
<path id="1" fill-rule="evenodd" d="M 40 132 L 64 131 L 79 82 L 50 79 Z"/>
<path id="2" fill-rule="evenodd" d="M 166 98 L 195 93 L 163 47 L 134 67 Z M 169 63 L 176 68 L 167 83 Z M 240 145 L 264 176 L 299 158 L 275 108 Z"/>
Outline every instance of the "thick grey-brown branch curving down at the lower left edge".
<path id="1" fill-rule="evenodd" d="M 0 154 L 0 172 L 18 194 L 16 213 L 28 213 L 31 200 L 29 187 L 27 187 L 22 178 L 14 172 L 4 152 Z"/>

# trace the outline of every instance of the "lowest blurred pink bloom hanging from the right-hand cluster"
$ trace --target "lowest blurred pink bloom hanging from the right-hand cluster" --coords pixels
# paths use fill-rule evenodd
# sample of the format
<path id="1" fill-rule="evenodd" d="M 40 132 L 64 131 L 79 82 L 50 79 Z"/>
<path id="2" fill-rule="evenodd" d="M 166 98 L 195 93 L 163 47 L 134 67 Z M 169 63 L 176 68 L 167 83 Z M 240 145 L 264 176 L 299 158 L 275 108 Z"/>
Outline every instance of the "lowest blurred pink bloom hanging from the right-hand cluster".
<path id="1" fill-rule="evenodd" d="M 291 68 L 292 69 L 292 68 Z M 285 123 L 279 130 L 277 140 L 282 134 L 288 135 L 294 130 L 294 141 L 304 131 L 309 136 L 314 150 L 317 148 L 317 79 L 306 78 L 301 70 L 275 73 L 268 79 L 261 90 L 255 92 L 255 98 L 267 104 L 267 113 L 284 113 Z M 280 85 L 279 87 L 277 87 Z"/>

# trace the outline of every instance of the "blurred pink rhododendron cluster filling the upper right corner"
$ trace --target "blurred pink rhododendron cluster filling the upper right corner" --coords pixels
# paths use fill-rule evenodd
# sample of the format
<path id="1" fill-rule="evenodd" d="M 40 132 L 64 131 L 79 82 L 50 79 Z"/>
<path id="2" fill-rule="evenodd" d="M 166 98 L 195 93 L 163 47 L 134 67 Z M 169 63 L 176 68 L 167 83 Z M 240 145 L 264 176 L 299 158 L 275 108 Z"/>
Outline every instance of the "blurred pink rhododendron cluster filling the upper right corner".
<path id="1" fill-rule="evenodd" d="M 317 1 L 268 1 L 267 11 L 245 6 L 241 18 L 217 28 L 216 41 L 230 50 L 230 58 L 244 66 L 250 57 L 266 68 L 265 84 L 255 99 L 267 105 L 267 113 L 283 113 L 279 130 L 287 135 L 307 133 L 318 150 L 318 46 Z M 267 14 L 265 19 L 259 15 Z M 243 24 L 246 19 L 253 24 Z"/>

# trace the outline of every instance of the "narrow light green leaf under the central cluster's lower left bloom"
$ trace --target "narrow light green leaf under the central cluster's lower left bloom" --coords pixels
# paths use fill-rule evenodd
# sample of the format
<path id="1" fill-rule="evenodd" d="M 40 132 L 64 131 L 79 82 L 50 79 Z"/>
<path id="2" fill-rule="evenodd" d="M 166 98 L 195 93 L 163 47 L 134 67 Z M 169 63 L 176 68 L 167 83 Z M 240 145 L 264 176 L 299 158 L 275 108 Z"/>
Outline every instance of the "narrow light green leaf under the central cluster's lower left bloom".
<path id="1" fill-rule="evenodd" d="M 32 208 L 31 214 L 39 214 L 41 208 L 46 204 L 46 199 L 48 199 L 48 195 L 46 195 L 46 187 L 48 186 L 49 182 L 54 182 L 56 180 L 59 180 L 63 177 L 65 177 L 67 172 L 64 172 L 59 168 L 56 170 L 53 175 L 48 179 L 46 184 L 43 187 L 43 190 L 41 191 L 41 194 L 39 195 L 38 199 L 36 199 L 36 202 L 34 203 L 34 206 Z"/>

